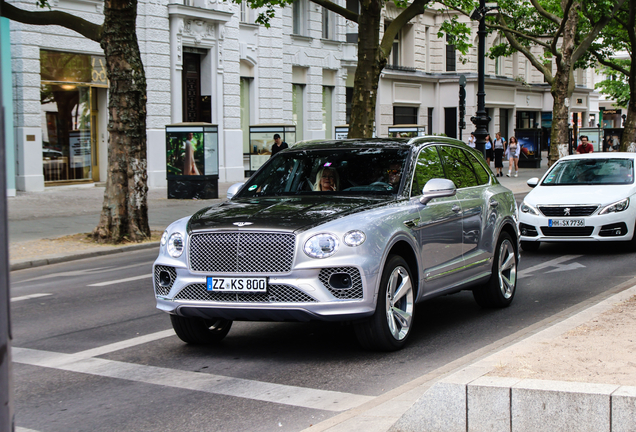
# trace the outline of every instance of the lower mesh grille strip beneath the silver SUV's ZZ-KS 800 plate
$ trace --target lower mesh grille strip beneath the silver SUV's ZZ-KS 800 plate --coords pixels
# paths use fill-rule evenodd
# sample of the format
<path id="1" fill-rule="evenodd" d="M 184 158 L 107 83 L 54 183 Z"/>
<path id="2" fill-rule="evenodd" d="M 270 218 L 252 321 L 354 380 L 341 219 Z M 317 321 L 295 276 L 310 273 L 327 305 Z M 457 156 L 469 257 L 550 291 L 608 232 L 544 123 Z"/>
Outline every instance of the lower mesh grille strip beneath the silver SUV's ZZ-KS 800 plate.
<path id="1" fill-rule="evenodd" d="M 269 285 L 267 293 L 209 292 L 205 284 L 188 285 L 175 300 L 198 300 L 227 303 L 313 303 L 316 299 L 289 285 Z"/>

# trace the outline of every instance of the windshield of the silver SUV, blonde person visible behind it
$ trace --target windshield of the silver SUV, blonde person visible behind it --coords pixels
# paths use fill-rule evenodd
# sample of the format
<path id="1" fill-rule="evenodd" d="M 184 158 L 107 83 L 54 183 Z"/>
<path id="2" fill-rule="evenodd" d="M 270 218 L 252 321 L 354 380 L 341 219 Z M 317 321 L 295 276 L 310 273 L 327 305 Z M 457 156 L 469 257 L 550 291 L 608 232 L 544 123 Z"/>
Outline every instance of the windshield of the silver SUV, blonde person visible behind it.
<path id="1" fill-rule="evenodd" d="M 408 154 L 395 148 L 285 151 L 250 178 L 237 197 L 397 194 Z"/>

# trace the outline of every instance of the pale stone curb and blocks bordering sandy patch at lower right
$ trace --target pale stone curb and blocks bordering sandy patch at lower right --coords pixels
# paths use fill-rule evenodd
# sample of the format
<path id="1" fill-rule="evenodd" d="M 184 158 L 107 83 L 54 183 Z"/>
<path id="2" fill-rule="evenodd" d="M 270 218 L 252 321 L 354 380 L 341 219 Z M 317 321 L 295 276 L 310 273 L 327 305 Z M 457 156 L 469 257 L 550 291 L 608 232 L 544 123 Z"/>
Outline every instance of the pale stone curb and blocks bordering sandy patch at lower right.
<path id="1" fill-rule="evenodd" d="M 636 295 L 636 285 L 524 339 L 554 339 Z M 435 383 L 390 428 L 390 432 L 553 430 L 618 432 L 633 430 L 636 387 L 572 381 L 504 378 L 489 375 L 519 344 L 488 356 Z"/>

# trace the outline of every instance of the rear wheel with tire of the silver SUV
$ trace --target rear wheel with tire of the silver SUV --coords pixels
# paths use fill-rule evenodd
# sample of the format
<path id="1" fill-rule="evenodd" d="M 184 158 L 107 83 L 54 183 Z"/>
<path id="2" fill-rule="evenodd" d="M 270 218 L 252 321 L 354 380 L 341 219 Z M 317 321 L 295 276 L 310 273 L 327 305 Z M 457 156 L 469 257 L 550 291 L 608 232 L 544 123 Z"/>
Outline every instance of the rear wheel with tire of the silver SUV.
<path id="1" fill-rule="evenodd" d="M 477 304 L 484 308 L 510 306 L 517 288 L 517 254 L 510 234 L 503 232 L 497 241 L 488 282 L 473 290 Z"/>

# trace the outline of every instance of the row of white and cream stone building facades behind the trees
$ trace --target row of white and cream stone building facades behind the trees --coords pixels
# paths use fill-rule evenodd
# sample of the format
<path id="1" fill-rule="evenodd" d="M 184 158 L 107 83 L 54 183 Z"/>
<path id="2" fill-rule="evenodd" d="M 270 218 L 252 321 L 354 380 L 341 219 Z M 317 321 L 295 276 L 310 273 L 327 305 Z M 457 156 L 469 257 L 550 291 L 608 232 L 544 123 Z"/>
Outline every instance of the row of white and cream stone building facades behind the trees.
<path id="1" fill-rule="evenodd" d="M 32 1 L 11 3 L 34 8 Z M 251 125 L 295 125 L 288 139 L 293 144 L 333 138 L 334 127 L 347 123 L 357 64 L 355 24 L 309 0 L 278 9 L 270 28 L 254 24 L 257 11 L 245 5 L 186 3 L 139 2 L 137 35 L 148 84 L 149 187 L 166 186 L 169 124 L 218 125 L 219 181 L 240 181 L 253 168 Z M 357 7 L 355 0 L 339 3 Z M 103 21 L 101 1 L 54 0 L 51 6 Z M 385 21 L 397 13 L 390 4 Z M 459 74 L 467 77 L 464 140 L 472 130 L 477 50 L 462 63 L 452 43 L 437 37 L 444 17 L 429 10 L 396 38 L 378 90 L 378 136 L 386 137 L 395 124 L 417 124 L 427 133 L 458 137 Z M 473 28 L 476 35 L 477 23 Z M 105 181 L 108 94 L 99 45 L 61 27 L 12 22 L 11 55 L 16 188 L 37 191 Z M 522 55 L 488 60 L 487 74 L 493 134 L 501 131 L 508 137 L 520 127 L 549 127 L 549 87 Z M 599 112 L 593 71 L 579 71 L 576 78 L 570 110 L 581 113 L 587 124 Z M 271 145 L 267 139 L 259 151 Z"/>

